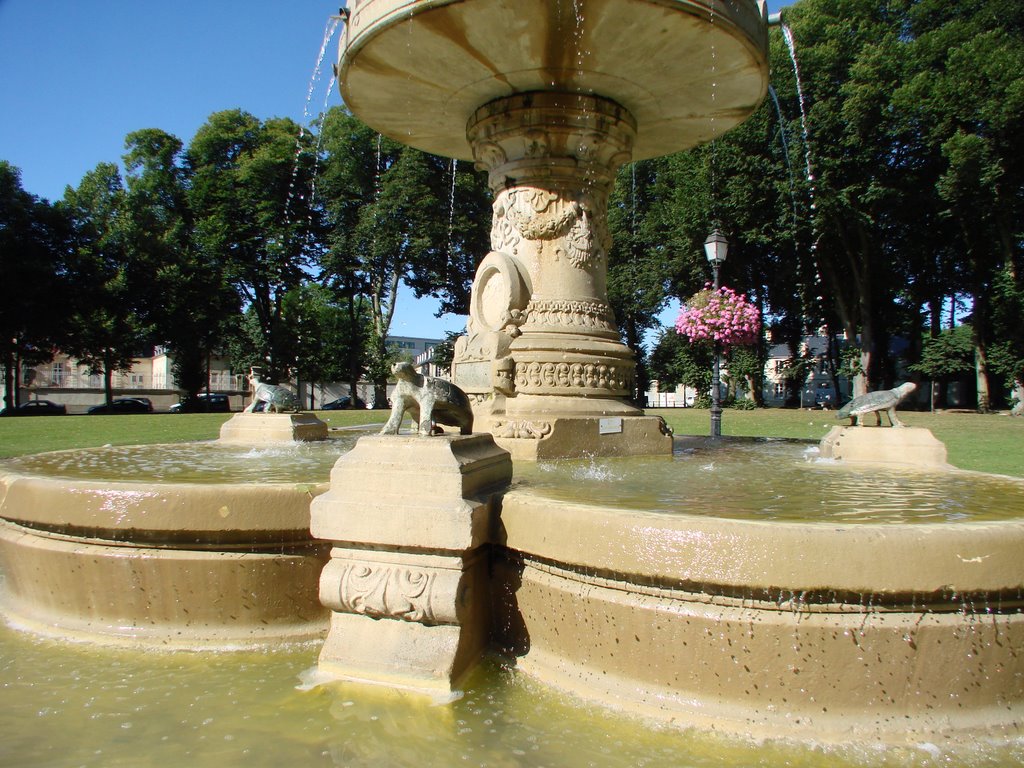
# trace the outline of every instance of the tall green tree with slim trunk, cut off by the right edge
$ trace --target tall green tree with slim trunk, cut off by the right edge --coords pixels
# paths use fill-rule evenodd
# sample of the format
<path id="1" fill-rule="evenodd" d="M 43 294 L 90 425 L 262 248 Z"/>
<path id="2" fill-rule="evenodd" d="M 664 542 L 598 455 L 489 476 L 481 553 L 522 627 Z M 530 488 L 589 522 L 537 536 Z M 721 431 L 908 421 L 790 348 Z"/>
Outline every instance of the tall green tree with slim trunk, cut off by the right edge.
<path id="1" fill-rule="evenodd" d="M 927 181 L 963 258 L 978 408 L 987 411 L 993 397 L 989 350 L 1001 341 L 992 297 L 1022 244 L 1024 7 L 1007 0 L 904 6 L 912 72 L 894 93 L 894 111 L 920 129 Z"/>

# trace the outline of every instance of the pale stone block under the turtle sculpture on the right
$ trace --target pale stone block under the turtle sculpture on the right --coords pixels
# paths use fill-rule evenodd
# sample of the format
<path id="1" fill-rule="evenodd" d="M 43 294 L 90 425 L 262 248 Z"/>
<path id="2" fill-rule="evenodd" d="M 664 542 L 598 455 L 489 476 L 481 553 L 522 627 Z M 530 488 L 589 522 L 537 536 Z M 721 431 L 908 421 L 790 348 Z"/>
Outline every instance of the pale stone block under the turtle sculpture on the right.
<path id="1" fill-rule="evenodd" d="M 821 458 L 907 469 L 949 469 L 946 446 L 921 427 L 833 427 Z"/>

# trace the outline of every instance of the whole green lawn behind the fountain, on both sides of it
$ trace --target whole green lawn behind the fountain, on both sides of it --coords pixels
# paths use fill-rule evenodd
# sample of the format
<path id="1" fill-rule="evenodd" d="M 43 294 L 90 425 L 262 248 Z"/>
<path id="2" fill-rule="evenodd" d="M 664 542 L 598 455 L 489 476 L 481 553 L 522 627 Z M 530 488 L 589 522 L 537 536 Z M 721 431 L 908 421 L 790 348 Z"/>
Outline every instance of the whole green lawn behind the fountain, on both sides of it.
<path id="1" fill-rule="evenodd" d="M 702 409 L 652 409 L 676 434 L 707 434 L 711 417 Z M 331 427 L 382 424 L 387 411 L 321 411 Z M 228 414 L 65 416 L 0 419 L 0 457 L 95 445 L 212 440 Z M 961 469 L 1024 477 L 1024 419 L 1008 416 L 900 412 L 911 427 L 925 427 L 946 443 L 949 463 Z M 839 424 L 828 411 L 726 410 L 722 433 L 742 437 L 820 440 Z"/>

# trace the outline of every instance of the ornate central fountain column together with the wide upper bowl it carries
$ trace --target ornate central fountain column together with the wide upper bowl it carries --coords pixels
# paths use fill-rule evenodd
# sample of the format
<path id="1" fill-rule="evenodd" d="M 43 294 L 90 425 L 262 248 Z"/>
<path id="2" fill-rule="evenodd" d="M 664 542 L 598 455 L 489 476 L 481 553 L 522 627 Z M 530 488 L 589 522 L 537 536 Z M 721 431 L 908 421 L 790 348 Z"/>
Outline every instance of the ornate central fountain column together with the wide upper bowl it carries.
<path id="1" fill-rule="evenodd" d="M 742 122 L 768 86 L 763 3 L 365 0 L 338 66 L 351 111 L 469 160 L 495 196 L 453 378 L 516 459 L 669 454 L 606 289 L 625 163 Z M 478 428 L 479 428 L 478 426 Z"/>

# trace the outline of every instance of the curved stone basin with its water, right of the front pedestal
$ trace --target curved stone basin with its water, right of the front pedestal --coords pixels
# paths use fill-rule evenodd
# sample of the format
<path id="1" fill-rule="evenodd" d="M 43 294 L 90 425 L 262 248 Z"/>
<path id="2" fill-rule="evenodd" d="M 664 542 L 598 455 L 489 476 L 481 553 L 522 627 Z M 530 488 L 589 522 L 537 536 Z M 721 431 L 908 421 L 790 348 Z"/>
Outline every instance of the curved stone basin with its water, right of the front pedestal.
<path id="1" fill-rule="evenodd" d="M 520 473 L 495 602 L 524 671 L 755 736 L 1021 733 L 1024 482 L 851 469 L 784 443 L 685 451 Z"/>

